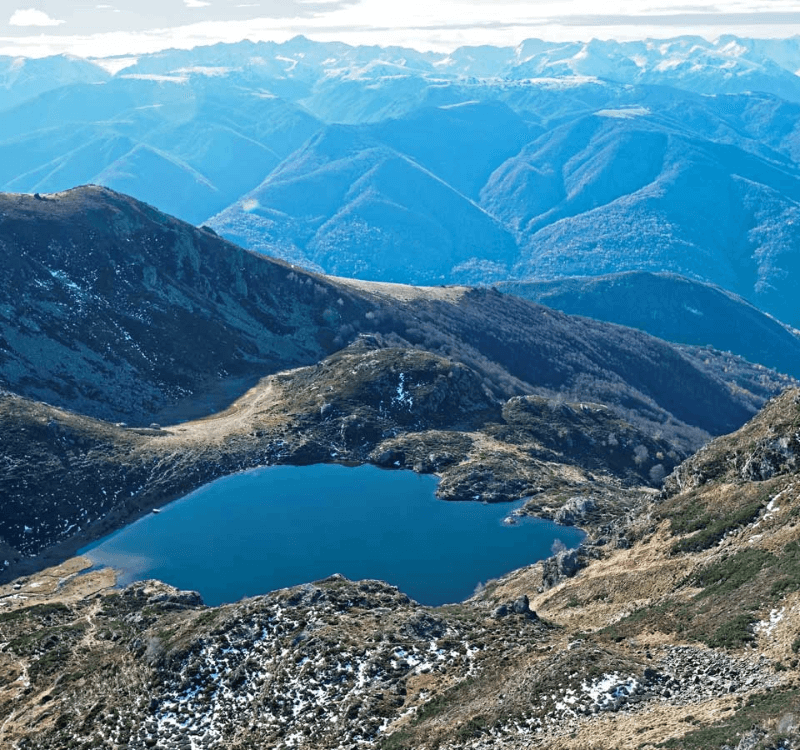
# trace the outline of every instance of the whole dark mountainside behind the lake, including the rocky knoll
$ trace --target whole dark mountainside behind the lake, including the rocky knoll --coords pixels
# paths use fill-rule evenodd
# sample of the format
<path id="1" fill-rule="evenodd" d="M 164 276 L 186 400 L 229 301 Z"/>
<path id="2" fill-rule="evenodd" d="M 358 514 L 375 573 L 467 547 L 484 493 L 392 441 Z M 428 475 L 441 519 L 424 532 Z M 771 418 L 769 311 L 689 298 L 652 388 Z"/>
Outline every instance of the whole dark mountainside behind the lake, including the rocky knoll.
<path id="1" fill-rule="evenodd" d="M 498 445 L 526 446 L 533 430 L 535 444 L 513 459 L 530 468 L 509 484 L 487 470 L 483 453 L 479 469 L 468 457 L 448 459 L 447 496 L 476 486 L 498 499 L 541 494 L 542 461 L 628 480 L 634 471 L 640 482 L 652 470 L 659 479 L 796 382 L 733 355 L 679 349 L 492 289 L 311 274 L 106 188 L 0 196 L 0 249 L 0 386 L 8 391 L 0 536 L 16 550 L 8 560 L 67 543 L 64 529 L 82 529 L 70 533 L 85 540 L 106 530 L 107 518 L 120 523 L 142 503 L 265 460 L 397 461 L 437 471 L 444 459 L 431 457 L 459 456 L 476 430 Z M 398 387 L 410 390 L 413 409 L 384 405 Z M 275 403 L 259 395 L 278 391 L 286 395 Z M 243 400 L 231 406 L 236 399 Z M 588 409 L 587 419 L 567 409 L 550 434 L 565 401 L 583 402 L 578 413 Z M 180 446 L 162 439 L 160 425 L 203 417 L 199 437 L 187 442 L 180 428 Z M 440 437 L 422 444 L 438 447 L 420 455 L 419 436 L 431 430 Z M 624 433 L 632 437 L 623 441 Z M 567 455 L 552 454 L 565 450 L 569 434 Z M 589 459 L 598 444 L 601 458 Z M 637 445 L 644 453 L 634 462 Z M 25 458 L 34 453 L 37 461 Z M 45 523 L 31 503 L 39 486 L 34 494 L 57 523 Z M 138 499 L 120 507 L 109 504 L 112 494 Z M 62 517 L 65 508 L 85 515 L 90 507 L 94 532 L 83 530 L 85 520 Z"/>

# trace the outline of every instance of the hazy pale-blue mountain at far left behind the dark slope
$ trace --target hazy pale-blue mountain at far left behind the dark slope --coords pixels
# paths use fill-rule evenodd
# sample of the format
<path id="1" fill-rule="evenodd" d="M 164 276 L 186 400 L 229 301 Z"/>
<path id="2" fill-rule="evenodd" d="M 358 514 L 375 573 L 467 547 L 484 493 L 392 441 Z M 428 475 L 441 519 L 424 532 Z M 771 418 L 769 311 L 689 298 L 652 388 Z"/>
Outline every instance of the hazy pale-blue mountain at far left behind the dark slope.
<path id="1" fill-rule="evenodd" d="M 271 95 L 182 80 L 70 85 L 0 113 L 0 184 L 57 192 L 97 183 L 200 223 L 321 126 Z"/>

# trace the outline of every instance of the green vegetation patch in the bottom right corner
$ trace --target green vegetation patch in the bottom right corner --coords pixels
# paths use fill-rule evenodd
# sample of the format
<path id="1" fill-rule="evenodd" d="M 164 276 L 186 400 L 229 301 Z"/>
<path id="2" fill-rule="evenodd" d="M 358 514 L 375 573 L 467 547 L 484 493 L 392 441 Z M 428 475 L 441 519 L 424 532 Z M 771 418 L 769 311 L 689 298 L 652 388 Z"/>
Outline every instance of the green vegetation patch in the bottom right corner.
<path id="1" fill-rule="evenodd" d="M 765 730 L 774 723 L 776 717 L 796 712 L 800 701 L 800 690 L 773 691 L 751 695 L 747 702 L 724 724 L 716 724 L 689 732 L 683 737 L 677 737 L 658 745 L 663 748 L 676 750 L 712 750 L 725 745 L 736 747 L 742 735 L 753 727 Z M 780 722 L 779 722 L 780 723 Z M 755 747 L 776 747 L 779 741 L 779 729 L 767 730 L 767 735 Z"/>

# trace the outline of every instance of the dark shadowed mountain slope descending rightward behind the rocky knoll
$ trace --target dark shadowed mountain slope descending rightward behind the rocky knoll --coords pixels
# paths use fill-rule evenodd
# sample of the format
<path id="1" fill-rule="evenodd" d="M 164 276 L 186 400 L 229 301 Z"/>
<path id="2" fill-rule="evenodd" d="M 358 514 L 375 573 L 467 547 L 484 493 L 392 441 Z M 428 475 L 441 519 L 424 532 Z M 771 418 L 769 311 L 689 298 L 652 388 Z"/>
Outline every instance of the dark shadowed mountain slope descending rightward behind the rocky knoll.
<path id="1" fill-rule="evenodd" d="M 199 416 L 370 332 L 463 362 L 498 396 L 606 403 L 687 444 L 789 382 L 496 291 L 303 273 L 102 188 L 3 196 L 0 243 L 3 384 L 112 421 Z"/>

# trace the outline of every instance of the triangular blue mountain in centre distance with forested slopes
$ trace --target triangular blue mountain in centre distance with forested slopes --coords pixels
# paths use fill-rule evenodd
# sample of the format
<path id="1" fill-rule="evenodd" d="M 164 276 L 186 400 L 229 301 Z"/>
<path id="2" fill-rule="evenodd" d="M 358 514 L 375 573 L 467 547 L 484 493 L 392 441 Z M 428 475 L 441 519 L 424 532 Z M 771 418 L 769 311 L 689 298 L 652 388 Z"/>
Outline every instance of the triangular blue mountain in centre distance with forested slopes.
<path id="1" fill-rule="evenodd" d="M 313 268 L 380 281 L 504 278 L 516 255 L 513 237 L 475 202 L 347 126 L 323 130 L 208 224 L 268 254 L 288 244 L 289 257 Z M 486 271 L 471 278 L 470 263 Z"/>

